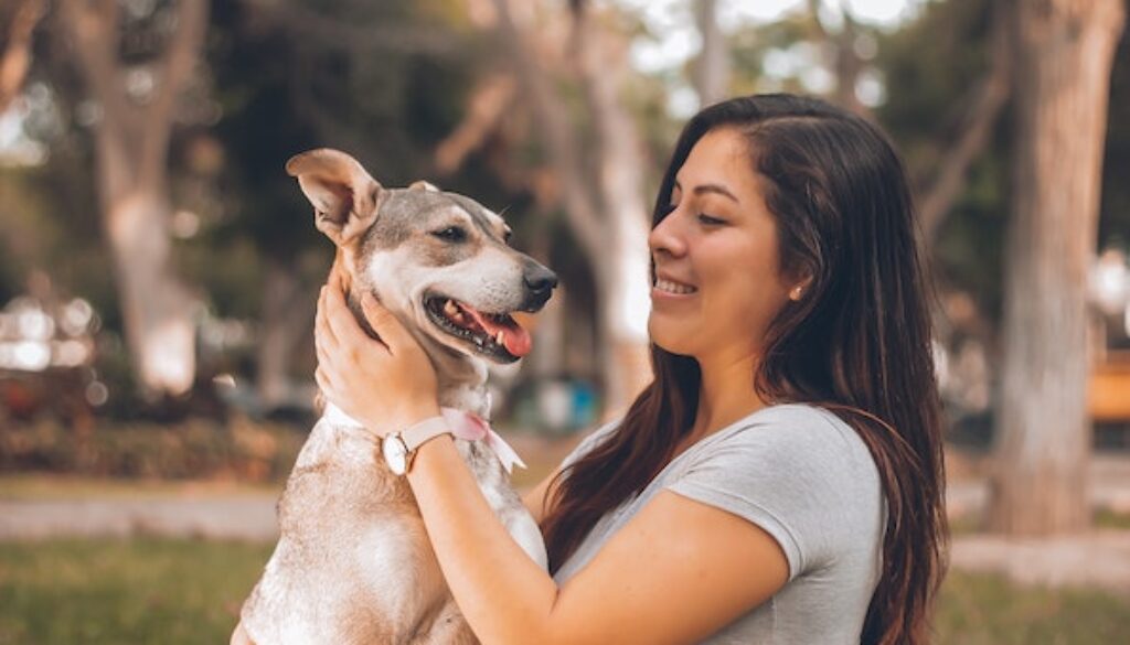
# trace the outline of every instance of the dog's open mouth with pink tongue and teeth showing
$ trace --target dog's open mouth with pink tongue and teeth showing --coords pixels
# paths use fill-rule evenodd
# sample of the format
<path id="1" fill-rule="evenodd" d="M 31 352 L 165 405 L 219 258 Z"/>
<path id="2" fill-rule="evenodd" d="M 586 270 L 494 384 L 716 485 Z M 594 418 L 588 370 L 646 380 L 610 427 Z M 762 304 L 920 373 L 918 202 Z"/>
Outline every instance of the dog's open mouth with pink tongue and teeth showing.
<path id="1" fill-rule="evenodd" d="M 424 299 L 428 317 L 449 335 L 499 363 L 513 363 L 530 352 L 530 332 L 508 313 L 486 313 L 446 296 Z"/>

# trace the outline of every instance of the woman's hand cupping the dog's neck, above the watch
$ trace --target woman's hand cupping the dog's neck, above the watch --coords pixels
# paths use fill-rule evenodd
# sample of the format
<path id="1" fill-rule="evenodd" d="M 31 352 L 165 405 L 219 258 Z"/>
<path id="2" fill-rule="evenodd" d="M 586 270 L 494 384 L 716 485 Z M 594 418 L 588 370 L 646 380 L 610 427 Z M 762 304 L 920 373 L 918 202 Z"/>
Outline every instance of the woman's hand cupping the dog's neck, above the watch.
<path id="1" fill-rule="evenodd" d="M 424 349 L 370 294 L 362 298 L 370 338 L 346 304 L 334 271 L 318 300 L 314 378 L 329 402 L 380 436 L 440 413 L 435 369 Z"/>

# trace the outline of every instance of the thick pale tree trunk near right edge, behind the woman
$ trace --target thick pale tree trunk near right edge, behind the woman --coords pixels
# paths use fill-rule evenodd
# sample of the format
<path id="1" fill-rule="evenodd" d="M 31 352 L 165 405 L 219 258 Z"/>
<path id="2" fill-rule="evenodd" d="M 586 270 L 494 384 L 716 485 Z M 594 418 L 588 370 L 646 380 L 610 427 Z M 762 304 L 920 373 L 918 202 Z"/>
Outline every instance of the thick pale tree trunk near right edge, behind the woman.
<path id="1" fill-rule="evenodd" d="M 1124 19 L 1122 0 L 1016 5 L 1018 131 L 990 515 L 1009 534 L 1089 524 L 1086 279 Z"/>

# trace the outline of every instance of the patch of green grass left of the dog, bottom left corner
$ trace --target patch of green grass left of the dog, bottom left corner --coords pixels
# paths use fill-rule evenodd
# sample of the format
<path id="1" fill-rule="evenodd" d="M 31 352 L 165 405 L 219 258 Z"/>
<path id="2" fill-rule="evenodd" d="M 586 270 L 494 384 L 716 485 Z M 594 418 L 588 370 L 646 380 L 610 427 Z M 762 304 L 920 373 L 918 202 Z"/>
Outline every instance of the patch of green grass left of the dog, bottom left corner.
<path id="1" fill-rule="evenodd" d="M 0 644 L 227 643 L 268 544 L 0 543 Z"/>

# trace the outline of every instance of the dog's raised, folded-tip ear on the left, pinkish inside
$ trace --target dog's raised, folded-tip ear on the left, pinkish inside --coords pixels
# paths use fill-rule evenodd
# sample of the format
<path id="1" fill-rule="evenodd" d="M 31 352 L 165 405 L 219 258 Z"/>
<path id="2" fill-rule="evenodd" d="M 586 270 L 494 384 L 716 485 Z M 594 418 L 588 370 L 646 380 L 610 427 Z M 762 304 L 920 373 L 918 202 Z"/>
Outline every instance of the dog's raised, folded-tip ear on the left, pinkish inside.
<path id="1" fill-rule="evenodd" d="M 290 157 L 286 172 L 298 177 L 314 204 L 314 226 L 341 246 L 372 226 L 385 191 L 349 155 L 319 148 Z"/>

